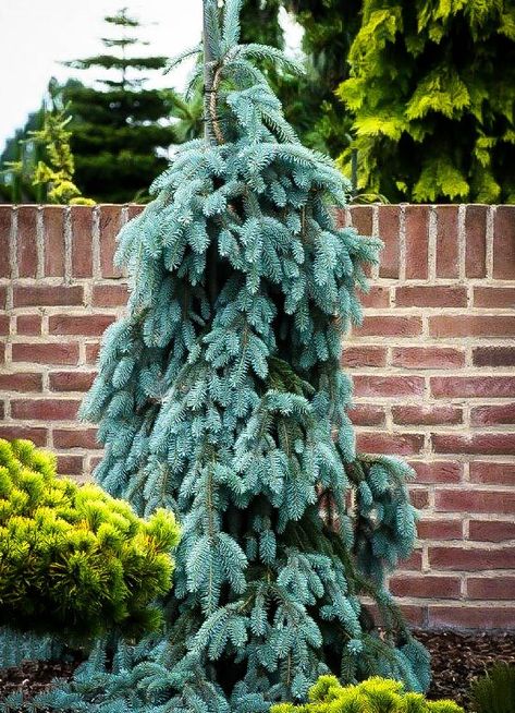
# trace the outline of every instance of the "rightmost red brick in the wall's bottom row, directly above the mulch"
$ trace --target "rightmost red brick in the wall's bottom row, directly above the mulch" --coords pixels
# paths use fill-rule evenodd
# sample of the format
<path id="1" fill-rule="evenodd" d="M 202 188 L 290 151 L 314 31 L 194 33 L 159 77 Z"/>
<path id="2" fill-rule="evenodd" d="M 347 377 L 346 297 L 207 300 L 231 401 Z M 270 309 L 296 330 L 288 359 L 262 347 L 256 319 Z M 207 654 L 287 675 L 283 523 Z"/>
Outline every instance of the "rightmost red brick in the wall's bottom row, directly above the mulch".
<path id="1" fill-rule="evenodd" d="M 506 629 L 515 628 L 515 606 L 429 606 L 430 629 Z"/>

